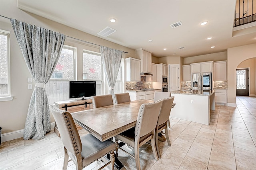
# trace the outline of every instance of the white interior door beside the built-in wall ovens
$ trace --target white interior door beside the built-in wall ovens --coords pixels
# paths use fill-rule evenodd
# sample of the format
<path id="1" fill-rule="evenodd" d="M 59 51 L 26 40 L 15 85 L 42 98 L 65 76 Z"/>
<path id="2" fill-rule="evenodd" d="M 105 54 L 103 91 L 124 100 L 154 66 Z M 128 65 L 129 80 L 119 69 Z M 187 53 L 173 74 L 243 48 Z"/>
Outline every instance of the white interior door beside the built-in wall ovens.
<path id="1" fill-rule="evenodd" d="M 169 64 L 169 91 L 180 90 L 180 64 Z"/>

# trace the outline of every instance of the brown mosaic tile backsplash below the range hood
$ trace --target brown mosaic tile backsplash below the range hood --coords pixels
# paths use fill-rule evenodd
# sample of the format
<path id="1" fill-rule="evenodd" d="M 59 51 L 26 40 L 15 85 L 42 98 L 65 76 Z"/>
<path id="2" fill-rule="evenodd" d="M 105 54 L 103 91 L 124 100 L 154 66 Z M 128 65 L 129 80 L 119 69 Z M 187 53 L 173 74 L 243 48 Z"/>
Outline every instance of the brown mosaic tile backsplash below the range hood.
<path id="1" fill-rule="evenodd" d="M 146 82 L 146 76 L 140 76 L 140 82 L 125 82 L 125 90 L 153 88 L 152 82 Z"/>

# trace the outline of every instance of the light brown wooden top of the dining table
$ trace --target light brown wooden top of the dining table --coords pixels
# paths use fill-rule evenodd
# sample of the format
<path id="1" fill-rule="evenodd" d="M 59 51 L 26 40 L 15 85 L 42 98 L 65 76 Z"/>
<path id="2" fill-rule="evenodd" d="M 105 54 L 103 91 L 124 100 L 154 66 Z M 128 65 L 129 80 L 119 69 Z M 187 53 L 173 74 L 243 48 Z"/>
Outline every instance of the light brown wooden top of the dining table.
<path id="1" fill-rule="evenodd" d="M 76 123 L 103 142 L 135 127 L 140 106 L 152 102 L 135 100 L 71 114 Z"/>

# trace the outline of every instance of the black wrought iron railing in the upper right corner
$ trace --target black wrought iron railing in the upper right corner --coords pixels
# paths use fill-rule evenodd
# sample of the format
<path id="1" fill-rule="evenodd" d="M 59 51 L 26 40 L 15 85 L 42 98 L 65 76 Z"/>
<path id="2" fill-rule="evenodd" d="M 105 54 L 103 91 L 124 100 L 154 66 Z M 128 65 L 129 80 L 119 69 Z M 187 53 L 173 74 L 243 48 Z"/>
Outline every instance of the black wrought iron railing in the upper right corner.
<path id="1" fill-rule="evenodd" d="M 237 0 L 234 27 L 256 21 L 256 0 Z"/>

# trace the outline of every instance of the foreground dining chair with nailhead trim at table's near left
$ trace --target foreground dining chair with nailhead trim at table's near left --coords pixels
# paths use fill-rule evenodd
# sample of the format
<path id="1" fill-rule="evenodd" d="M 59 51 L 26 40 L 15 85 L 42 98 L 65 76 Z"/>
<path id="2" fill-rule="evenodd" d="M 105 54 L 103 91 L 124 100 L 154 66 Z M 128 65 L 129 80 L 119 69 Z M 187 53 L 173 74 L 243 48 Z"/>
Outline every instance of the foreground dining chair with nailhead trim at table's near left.
<path id="1" fill-rule="evenodd" d="M 68 111 L 60 110 L 55 105 L 51 105 L 50 112 L 58 125 L 60 137 L 64 145 L 63 170 L 66 170 L 68 167 L 68 157 L 74 162 L 77 170 L 82 170 L 82 168 L 108 153 L 110 153 L 110 162 L 103 167 L 111 163 L 112 170 L 114 170 L 116 143 L 110 140 L 101 142 L 91 134 L 80 138 L 72 115 Z"/>

